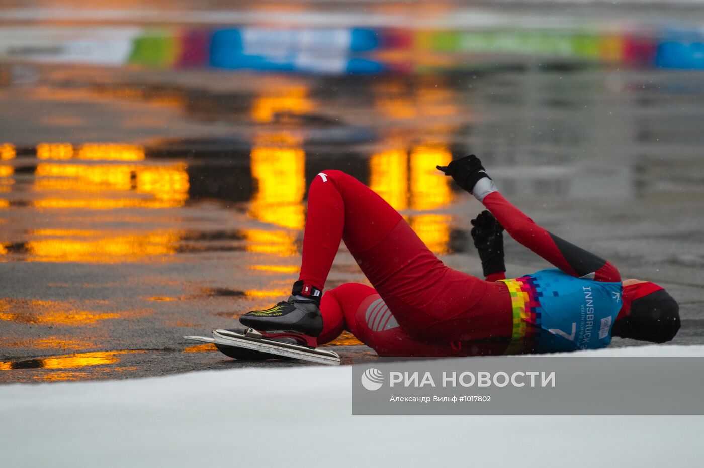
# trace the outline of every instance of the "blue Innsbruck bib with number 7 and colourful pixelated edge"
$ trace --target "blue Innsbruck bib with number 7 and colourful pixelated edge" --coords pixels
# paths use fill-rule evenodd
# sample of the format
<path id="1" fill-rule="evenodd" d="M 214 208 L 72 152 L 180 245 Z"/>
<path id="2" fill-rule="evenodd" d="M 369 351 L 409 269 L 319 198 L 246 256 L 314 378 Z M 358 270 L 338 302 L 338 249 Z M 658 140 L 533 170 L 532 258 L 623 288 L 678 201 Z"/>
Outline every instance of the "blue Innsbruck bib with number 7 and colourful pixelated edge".
<path id="1" fill-rule="evenodd" d="M 502 281 L 513 306 L 507 353 L 598 349 L 611 343 L 621 310 L 620 282 L 574 278 L 555 268 Z"/>

